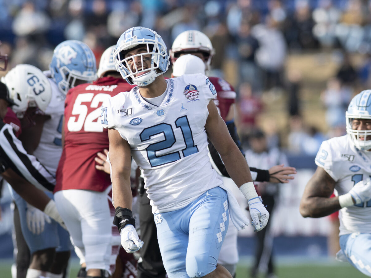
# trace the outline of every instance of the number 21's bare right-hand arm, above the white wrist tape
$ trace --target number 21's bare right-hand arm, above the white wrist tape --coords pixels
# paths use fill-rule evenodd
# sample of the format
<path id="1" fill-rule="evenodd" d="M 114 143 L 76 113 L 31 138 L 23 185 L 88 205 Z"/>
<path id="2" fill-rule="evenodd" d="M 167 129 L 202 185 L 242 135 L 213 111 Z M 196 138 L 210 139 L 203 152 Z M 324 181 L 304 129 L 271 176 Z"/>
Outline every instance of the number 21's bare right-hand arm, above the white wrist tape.
<path id="1" fill-rule="evenodd" d="M 205 125 L 207 136 L 219 152 L 229 176 L 238 187 L 243 183 L 252 182 L 249 165 L 247 165 L 246 159 L 230 136 L 214 102 L 209 102 L 207 108 L 209 109 L 209 116 Z"/>

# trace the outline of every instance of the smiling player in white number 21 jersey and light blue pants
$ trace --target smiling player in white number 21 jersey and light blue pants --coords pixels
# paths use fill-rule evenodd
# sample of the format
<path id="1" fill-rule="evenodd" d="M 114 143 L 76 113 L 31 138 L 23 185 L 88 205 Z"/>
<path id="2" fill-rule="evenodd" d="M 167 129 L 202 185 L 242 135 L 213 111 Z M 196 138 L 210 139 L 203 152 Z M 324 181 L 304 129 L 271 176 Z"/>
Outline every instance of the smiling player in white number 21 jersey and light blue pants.
<path id="1" fill-rule="evenodd" d="M 106 100 L 101 112 L 102 125 L 109 128 L 112 202 L 122 246 L 135 252 L 144 244 L 131 212 L 133 156 L 144 172 L 168 276 L 232 277 L 216 258 L 229 219 L 238 229 L 249 220 L 211 167 L 208 137 L 249 201 L 255 231 L 265 227 L 269 214 L 246 159 L 210 101 L 216 97 L 213 84 L 204 75 L 165 80 L 170 63 L 166 46 L 144 27 L 121 35 L 114 63 L 129 84 L 138 85 Z"/>

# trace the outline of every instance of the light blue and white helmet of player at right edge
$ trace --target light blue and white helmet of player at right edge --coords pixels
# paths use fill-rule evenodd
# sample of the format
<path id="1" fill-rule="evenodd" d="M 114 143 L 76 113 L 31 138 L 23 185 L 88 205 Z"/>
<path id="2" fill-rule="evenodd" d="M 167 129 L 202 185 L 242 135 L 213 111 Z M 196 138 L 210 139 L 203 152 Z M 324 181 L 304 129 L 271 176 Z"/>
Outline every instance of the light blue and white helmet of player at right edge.
<path id="1" fill-rule="evenodd" d="M 357 149 L 370 150 L 371 140 L 365 139 L 367 139 L 367 136 L 371 136 L 371 130 L 352 129 L 352 120 L 371 120 L 371 90 L 364 90 L 353 97 L 349 103 L 347 112 L 345 112 L 345 118 L 347 119 L 347 133 L 351 136 L 354 146 Z M 361 137 L 364 140 L 359 140 Z"/>

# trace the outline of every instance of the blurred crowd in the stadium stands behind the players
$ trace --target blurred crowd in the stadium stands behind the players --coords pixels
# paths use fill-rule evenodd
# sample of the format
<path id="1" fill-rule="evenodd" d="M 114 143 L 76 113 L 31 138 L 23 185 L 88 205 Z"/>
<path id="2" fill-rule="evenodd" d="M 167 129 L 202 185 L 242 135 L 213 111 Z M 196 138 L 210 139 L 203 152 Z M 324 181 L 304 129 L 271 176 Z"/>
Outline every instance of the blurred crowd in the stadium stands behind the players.
<path id="1" fill-rule="evenodd" d="M 0 50 L 9 55 L 9 69 L 28 63 L 46 70 L 52 50 L 66 39 L 85 42 L 99 61 L 132 26 L 156 30 L 168 48 L 184 30 L 210 37 L 216 49 L 210 75 L 235 86 L 242 138 L 265 110 L 264 93 L 273 100 L 283 93 L 287 142 L 274 123 L 275 133 L 267 134 L 271 146 L 292 153 L 315 155 L 322 140 L 343 135 L 349 100 L 371 83 L 371 0 L 0 0 Z M 318 102 L 327 133 L 305 123 L 301 73 L 285 68 L 288 55 L 313 52 L 337 57 Z M 361 56 L 357 66 L 353 55 Z"/>

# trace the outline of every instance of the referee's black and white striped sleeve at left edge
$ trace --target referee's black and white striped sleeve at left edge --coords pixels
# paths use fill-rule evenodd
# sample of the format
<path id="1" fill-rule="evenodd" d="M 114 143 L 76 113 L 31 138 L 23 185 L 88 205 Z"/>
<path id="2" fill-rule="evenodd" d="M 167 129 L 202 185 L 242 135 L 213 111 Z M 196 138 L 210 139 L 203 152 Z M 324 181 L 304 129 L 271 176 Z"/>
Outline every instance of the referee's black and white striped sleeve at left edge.
<path id="1" fill-rule="evenodd" d="M 41 190 L 53 192 L 55 177 L 33 155 L 27 154 L 22 142 L 14 136 L 11 125 L 0 121 L 1 170 L 11 168 L 26 181 Z"/>

